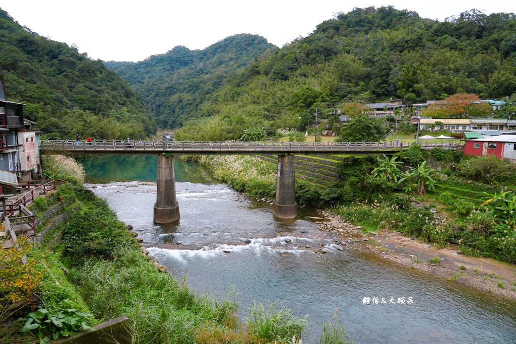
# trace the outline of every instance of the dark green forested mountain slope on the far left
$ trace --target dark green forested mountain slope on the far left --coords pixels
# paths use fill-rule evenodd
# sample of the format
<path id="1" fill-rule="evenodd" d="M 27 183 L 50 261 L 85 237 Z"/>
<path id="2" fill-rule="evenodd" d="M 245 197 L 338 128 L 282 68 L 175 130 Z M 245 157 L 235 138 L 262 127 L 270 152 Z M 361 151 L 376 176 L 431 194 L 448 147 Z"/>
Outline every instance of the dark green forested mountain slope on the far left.
<path id="1" fill-rule="evenodd" d="M 76 134 L 138 138 L 156 131 L 154 115 L 100 60 L 39 36 L 0 9 L 0 65 L 9 100 L 54 138 Z"/>

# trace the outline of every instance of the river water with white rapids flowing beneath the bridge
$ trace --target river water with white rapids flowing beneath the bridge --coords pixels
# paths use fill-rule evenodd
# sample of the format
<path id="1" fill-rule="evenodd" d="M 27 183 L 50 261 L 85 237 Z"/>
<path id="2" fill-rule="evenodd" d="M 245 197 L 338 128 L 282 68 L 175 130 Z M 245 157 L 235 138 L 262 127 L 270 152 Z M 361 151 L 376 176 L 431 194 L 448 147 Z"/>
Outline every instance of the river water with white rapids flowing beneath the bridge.
<path id="1" fill-rule="evenodd" d="M 300 209 L 295 222 L 277 221 L 270 205 L 217 182 L 199 165 L 176 160 L 181 222 L 155 226 L 155 156 L 81 162 L 87 187 L 133 225 L 169 273 L 186 275 L 192 288 L 218 298 L 231 291 L 241 318 L 255 301 L 277 302 L 297 316 L 309 315 L 305 343 L 317 342 L 321 323 L 333 317 L 356 343 L 516 343 L 513 301 L 352 249 L 338 251 L 339 237 L 319 231 L 307 219 L 318 216 L 314 209 Z M 320 244 L 327 254 L 314 253 Z M 405 304 L 397 303 L 401 297 Z"/>

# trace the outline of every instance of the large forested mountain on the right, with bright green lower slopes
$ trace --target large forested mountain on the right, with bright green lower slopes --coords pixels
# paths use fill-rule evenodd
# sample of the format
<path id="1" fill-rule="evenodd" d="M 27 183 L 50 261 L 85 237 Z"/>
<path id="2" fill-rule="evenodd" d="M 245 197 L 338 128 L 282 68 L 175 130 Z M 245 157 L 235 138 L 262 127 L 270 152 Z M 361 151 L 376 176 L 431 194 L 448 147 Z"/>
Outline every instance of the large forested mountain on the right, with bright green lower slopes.
<path id="1" fill-rule="evenodd" d="M 393 7 L 357 8 L 235 73 L 199 107 L 197 116 L 212 117 L 190 121 L 178 138 L 237 139 L 251 125 L 298 128 L 327 105 L 459 92 L 516 92 L 514 14 L 471 10 L 439 22 Z"/>

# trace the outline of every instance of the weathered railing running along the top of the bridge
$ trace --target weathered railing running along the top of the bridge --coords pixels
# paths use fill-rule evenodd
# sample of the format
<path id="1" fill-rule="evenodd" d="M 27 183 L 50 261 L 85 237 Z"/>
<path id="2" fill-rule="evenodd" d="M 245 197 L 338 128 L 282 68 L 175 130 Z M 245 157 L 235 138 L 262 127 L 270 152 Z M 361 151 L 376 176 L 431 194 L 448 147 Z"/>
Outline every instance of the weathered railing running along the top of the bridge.
<path id="1" fill-rule="evenodd" d="M 42 150 L 63 151 L 151 151 L 151 152 L 295 152 L 295 151 L 395 151 L 408 148 L 414 144 L 410 140 L 392 140 L 384 142 L 240 142 L 240 141 L 118 141 L 103 140 L 79 142 L 73 140 L 42 140 Z M 452 142 L 422 142 L 424 148 L 443 147 L 453 149 Z"/>

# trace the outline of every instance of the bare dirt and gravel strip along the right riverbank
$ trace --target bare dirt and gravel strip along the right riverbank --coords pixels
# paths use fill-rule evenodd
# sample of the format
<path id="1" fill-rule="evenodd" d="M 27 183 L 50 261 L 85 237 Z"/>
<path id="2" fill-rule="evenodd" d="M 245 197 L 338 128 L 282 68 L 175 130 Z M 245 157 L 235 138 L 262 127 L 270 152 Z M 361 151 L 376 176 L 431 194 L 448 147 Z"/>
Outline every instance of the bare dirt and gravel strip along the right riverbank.
<path id="1" fill-rule="evenodd" d="M 380 230 L 367 236 L 360 226 L 347 223 L 328 210 L 320 210 L 326 221 L 317 222 L 321 231 L 342 235 L 341 245 L 415 270 L 426 271 L 453 283 L 475 287 L 516 300 L 516 265 L 491 258 L 461 255 L 457 248 L 436 249 L 430 244 L 396 231 Z M 430 259 L 437 258 L 438 261 Z"/>

